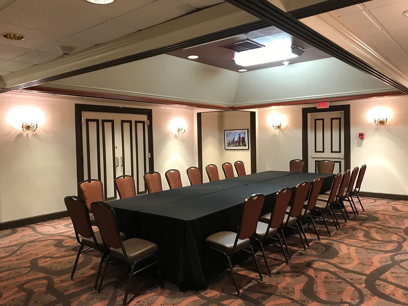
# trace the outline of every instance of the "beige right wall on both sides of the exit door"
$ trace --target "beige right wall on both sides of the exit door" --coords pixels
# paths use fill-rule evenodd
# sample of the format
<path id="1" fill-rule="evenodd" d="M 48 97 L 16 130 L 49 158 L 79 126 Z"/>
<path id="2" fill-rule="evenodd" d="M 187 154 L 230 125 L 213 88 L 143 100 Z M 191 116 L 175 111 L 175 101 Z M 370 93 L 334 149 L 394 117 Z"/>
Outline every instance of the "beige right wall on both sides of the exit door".
<path id="1" fill-rule="evenodd" d="M 350 104 L 351 166 L 367 164 L 362 191 L 408 194 L 408 96 L 330 103 Z M 302 158 L 302 107 L 275 106 L 258 110 L 257 170 L 288 171 L 289 161 Z M 386 126 L 376 126 L 375 115 L 388 115 Z M 279 118 L 283 129 L 268 120 Z M 284 123 L 285 122 L 285 123 Z M 364 132 L 364 140 L 358 133 Z"/>

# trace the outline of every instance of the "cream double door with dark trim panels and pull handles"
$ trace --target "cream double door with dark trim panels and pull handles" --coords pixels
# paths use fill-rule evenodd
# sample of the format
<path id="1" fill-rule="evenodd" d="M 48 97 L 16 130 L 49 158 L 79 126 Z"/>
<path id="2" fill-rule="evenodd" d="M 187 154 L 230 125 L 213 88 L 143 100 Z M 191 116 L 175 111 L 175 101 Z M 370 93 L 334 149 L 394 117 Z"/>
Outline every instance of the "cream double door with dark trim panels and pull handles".
<path id="1" fill-rule="evenodd" d="M 133 176 L 137 195 L 146 193 L 148 124 L 147 115 L 82 112 L 84 180 L 101 180 L 105 200 L 119 198 L 113 180 L 120 175 Z"/>

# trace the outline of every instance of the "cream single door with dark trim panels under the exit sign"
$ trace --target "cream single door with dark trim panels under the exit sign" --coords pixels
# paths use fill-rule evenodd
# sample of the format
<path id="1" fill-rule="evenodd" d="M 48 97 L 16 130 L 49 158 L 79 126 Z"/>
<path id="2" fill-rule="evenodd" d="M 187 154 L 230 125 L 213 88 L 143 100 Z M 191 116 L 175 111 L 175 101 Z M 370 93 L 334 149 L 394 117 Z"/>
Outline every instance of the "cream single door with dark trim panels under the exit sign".
<path id="1" fill-rule="evenodd" d="M 309 172 L 319 160 L 333 160 L 333 173 L 344 171 L 344 112 L 310 113 L 308 117 Z"/>

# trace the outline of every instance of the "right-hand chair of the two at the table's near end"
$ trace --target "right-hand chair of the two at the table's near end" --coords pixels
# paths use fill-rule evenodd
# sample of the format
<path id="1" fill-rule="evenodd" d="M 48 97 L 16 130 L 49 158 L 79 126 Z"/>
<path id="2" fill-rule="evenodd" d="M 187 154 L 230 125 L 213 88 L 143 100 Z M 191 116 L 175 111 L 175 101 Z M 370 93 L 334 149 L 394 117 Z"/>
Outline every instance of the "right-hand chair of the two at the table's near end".
<path id="1" fill-rule="evenodd" d="M 125 295 L 123 298 L 123 305 L 126 305 L 127 296 L 132 278 L 139 272 L 145 269 L 157 265 L 157 272 L 160 279 L 160 288 L 164 288 L 162 276 L 160 274 L 159 262 L 157 261 L 158 247 L 155 243 L 140 239 L 130 238 L 122 240 L 120 237 L 120 231 L 118 227 L 118 220 L 116 218 L 115 210 L 104 202 L 93 202 L 91 204 L 92 211 L 95 215 L 95 220 L 98 222 L 98 228 L 102 237 L 102 242 L 107 250 L 105 259 L 105 265 L 101 275 L 101 280 L 98 285 L 97 293 L 100 293 L 102 282 L 106 273 L 106 267 L 109 264 L 109 258 L 114 257 L 120 259 L 131 266 L 129 281 L 126 286 Z M 150 257 L 155 257 L 153 262 L 149 262 L 147 266 L 135 271 L 136 264 L 144 261 Z"/>

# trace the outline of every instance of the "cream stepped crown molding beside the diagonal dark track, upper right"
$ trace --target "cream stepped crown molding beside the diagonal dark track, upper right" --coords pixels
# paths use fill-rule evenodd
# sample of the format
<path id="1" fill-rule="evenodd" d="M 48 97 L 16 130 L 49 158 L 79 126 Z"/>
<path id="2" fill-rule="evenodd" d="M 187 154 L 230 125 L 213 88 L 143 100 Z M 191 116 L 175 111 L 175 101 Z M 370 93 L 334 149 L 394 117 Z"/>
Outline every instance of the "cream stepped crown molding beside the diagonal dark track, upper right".
<path id="1" fill-rule="evenodd" d="M 300 19 L 300 21 L 357 56 L 379 72 L 384 73 L 389 78 L 408 87 L 407 73 L 396 67 L 394 63 L 390 62 L 373 47 L 366 44 L 357 33 L 346 27 L 346 25 L 332 13 L 323 13 Z"/>

